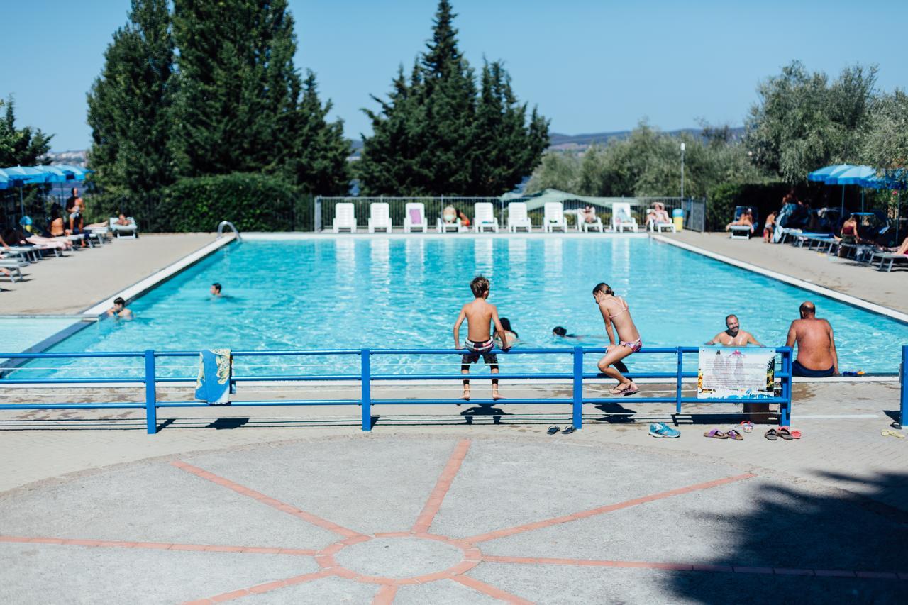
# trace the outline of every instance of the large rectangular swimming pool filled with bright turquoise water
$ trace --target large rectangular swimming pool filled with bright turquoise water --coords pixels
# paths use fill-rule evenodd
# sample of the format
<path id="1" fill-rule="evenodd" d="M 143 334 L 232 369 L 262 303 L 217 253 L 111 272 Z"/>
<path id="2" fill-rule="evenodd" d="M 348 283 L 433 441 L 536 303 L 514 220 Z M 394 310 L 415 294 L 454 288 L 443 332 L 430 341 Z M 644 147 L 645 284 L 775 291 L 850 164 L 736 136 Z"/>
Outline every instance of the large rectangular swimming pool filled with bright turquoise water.
<path id="1" fill-rule="evenodd" d="M 133 321 L 97 322 L 52 351 L 449 347 L 477 273 L 491 280 L 489 302 L 524 346 L 575 344 L 551 336 L 556 325 L 584 336 L 580 344 L 603 346 L 591 294 L 598 282 L 627 298 L 645 346 L 706 342 L 725 329 L 729 313 L 761 342 L 781 346 L 804 300 L 813 300 L 818 316 L 832 322 L 843 371 L 896 372 L 897 344 L 908 342 L 908 325 L 649 238 L 414 235 L 234 243 L 133 302 Z M 214 282 L 223 284 L 222 299 L 209 295 Z M 549 370 L 556 363 L 569 371 L 567 358 L 527 358 L 508 360 L 508 371 Z M 644 358 L 633 361 L 632 367 L 647 367 Z M 134 368 L 110 363 L 114 375 L 141 375 L 141 361 Z M 254 363 L 268 374 L 300 371 L 283 367 L 281 358 Z M 310 373 L 342 370 L 328 359 L 307 363 Z M 421 373 L 430 364 L 387 363 L 393 368 L 379 370 Z M 101 369 L 97 360 L 40 360 L 16 377 L 55 375 L 64 366 L 70 375 L 96 376 Z M 350 359 L 348 370 L 356 367 Z M 457 360 L 445 367 L 456 372 Z M 161 373 L 192 375 L 192 363 L 183 362 L 183 370 L 164 364 Z"/>

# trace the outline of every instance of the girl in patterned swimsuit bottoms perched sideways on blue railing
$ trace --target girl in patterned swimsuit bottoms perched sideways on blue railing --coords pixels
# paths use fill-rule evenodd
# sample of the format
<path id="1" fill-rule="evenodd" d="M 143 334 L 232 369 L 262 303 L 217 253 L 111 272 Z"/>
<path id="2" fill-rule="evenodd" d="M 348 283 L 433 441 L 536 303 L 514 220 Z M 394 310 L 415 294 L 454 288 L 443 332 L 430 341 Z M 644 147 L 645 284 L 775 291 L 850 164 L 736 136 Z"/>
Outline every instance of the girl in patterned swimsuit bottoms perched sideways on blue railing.
<path id="1" fill-rule="evenodd" d="M 618 383 L 612 389 L 612 394 L 633 395 L 640 391 L 634 381 L 626 378 L 615 368 L 610 367 L 643 347 L 643 342 L 640 341 L 640 332 L 637 332 L 637 326 L 634 325 L 634 320 L 631 319 L 630 311 L 627 308 L 627 301 L 620 296 L 616 296 L 611 286 L 607 283 L 597 283 L 596 287 L 593 288 L 593 300 L 599 305 L 602 320 L 606 322 L 609 342 L 605 356 L 599 360 L 599 370 L 609 378 L 617 380 Z M 612 329 L 613 327 L 614 330 Z M 615 332 L 617 332 L 618 339 L 620 339 L 617 344 L 615 344 Z"/>

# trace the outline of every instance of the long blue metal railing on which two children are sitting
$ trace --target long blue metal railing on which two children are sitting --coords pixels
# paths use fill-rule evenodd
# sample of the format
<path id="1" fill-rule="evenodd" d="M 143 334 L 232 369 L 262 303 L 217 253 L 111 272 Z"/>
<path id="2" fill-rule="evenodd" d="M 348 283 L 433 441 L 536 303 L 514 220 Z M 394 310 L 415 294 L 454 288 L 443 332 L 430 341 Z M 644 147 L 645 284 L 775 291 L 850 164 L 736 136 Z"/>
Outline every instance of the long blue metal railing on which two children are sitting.
<path id="1" fill-rule="evenodd" d="M 712 398 L 699 399 L 697 397 L 685 397 L 682 393 L 682 383 L 684 379 L 697 377 L 697 372 L 684 371 L 684 357 L 686 354 L 699 352 L 699 347 L 673 347 L 673 348 L 647 348 L 639 353 L 656 353 L 671 354 L 676 356 L 676 368 L 674 372 L 630 372 L 635 379 L 664 379 L 666 382 L 673 382 L 676 385 L 675 392 L 672 396 L 666 397 L 647 397 L 645 393 L 635 396 L 633 401 L 621 399 L 622 402 L 630 403 L 672 403 L 676 405 L 676 413 L 681 413 L 681 406 L 684 403 L 777 403 L 779 404 L 780 424 L 787 425 L 791 422 L 791 405 L 792 405 L 792 350 L 787 347 L 776 349 L 780 361 L 777 362 L 779 367 L 776 368 L 775 378 L 779 379 L 780 392 L 778 396 L 763 399 L 741 399 L 741 398 Z M 425 373 L 425 374 L 394 374 L 394 373 L 372 373 L 371 362 L 373 358 L 381 356 L 400 357 L 402 355 L 461 355 L 464 350 L 455 349 L 351 349 L 346 351 L 236 351 L 232 352 L 234 358 L 242 357 L 311 357 L 311 356 L 356 356 L 360 361 L 360 370 L 358 373 L 349 374 L 291 374 L 291 375 L 235 375 L 232 382 L 298 382 L 298 381 L 351 381 L 360 383 L 359 399 L 325 399 L 325 400 L 268 400 L 268 401 L 232 401 L 232 406 L 272 406 L 272 405 L 359 405 L 362 412 L 362 430 L 370 431 L 372 428 L 373 405 L 425 405 L 425 404 L 451 404 L 463 403 L 459 399 L 441 399 L 439 397 L 428 399 L 375 399 L 372 396 L 372 382 L 375 381 L 425 381 L 425 380 L 450 380 L 460 381 L 467 376 L 463 374 L 450 373 Z M 508 352 L 494 351 L 495 353 L 506 355 L 569 355 L 571 357 L 570 372 L 525 372 L 525 373 L 470 373 L 469 380 L 488 381 L 491 379 L 501 380 L 526 380 L 526 379 L 547 379 L 547 380 L 569 380 L 572 383 L 571 396 L 569 398 L 508 398 L 506 400 L 494 399 L 470 399 L 470 404 L 479 405 L 501 405 L 506 403 L 518 404 L 552 404 L 564 403 L 569 404 L 572 409 L 572 421 L 577 429 L 583 426 L 583 404 L 602 404 L 606 402 L 618 401 L 615 397 L 592 397 L 585 394 L 584 380 L 592 378 L 602 378 L 603 374 L 597 372 L 584 372 L 584 359 L 586 355 L 603 354 L 606 352 L 603 348 L 558 348 L 558 349 L 513 349 Z M 194 382 L 194 376 L 158 376 L 157 360 L 163 358 L 181 358 L 197 357 L 198 352 L 180 351 L 180 352 L 155 352 L 147 350 L 144 352 L 69 352 L 69 353 L 0 353 L 0 359 L 8 360 L 35 360 L 35 359 L 101 359 L 101 358 L 130 358 L 141 360 L 144 364 L 142 377 L 117 377 L 117 378 L 23 378 L 23 379 L 0 379 L 0 386 L 4 385 L 50 385 L 50 384 L 111 384 L 111 383 L 142 383 L 144 384 L 145 401 L 136 403 L 123 402 L 100 402 L 100 403 L 0 403 L 0 410 L 94 410 L 94 409 L 145 409 L 146 430 L 149 434 L 158 431 L 157 410 L 159 408 L 192 408 L 207 407 L 208 403 L 198 401 L 183 402 L 159 402 L 157 400 L 156 386 L 160 382 Z M 903 349 L 903 358 L 908 355 L 908 347 Z M 903 361 L 903 382 L 904 367 Z M 27 369 L 19 368 L 19 369 Z M 904 414 L 905 392 L 903 389 L 902 410 Z"/>

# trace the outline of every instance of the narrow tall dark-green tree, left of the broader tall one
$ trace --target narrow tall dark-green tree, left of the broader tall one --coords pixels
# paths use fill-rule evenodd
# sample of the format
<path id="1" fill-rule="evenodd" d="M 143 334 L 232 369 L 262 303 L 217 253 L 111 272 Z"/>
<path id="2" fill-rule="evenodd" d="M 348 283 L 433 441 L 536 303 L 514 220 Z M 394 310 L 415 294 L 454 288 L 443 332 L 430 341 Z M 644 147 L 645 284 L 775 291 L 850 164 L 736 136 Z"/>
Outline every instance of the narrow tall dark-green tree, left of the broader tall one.
<path id="1" fill-rule="evenodd" d="M 173 36 L 166 0 L 133 0 L 126 25 L 104 52 L 104 68 L 88 93 L 92 127 L 89 164 L 113 209 L 127 200 L 146 219 L 173 182 L 168 152 Z M 132 208 L 133 212 L 139 208 Z"/>

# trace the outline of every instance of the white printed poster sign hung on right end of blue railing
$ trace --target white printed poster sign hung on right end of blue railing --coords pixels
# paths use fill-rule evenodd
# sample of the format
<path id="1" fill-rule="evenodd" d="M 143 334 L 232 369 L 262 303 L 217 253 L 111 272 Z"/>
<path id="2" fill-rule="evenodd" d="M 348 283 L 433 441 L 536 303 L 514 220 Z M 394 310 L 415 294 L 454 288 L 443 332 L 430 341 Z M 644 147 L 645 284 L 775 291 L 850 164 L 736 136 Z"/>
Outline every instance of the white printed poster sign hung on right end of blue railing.
<path id="1" fill-rule="evenodd" d="M 697 399 L 766 399 L 775 394 L 775 349 L 701 347 Z"/>

